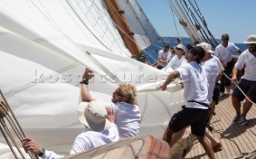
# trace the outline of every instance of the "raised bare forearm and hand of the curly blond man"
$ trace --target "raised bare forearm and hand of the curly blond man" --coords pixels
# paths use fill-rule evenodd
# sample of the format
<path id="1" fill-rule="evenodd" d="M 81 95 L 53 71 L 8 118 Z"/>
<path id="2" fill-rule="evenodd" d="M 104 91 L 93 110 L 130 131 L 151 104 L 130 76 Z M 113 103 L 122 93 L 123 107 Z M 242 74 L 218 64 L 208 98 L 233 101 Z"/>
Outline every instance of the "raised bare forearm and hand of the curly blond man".
<path id="1" fill-rule="evenodd" d="M 94 73 L 91 70 L 86 69 L 85 73 L 82 75 L 82 81 L 90 80 L 93 77 L 94 77 Z M 82 101 L 90 102 L 90 101 L 96 100 L 94 97 L 90 96 L 88 85 L 85 85 L 83 83 L 81 84 L 81 96 L 82 96 Z"/>

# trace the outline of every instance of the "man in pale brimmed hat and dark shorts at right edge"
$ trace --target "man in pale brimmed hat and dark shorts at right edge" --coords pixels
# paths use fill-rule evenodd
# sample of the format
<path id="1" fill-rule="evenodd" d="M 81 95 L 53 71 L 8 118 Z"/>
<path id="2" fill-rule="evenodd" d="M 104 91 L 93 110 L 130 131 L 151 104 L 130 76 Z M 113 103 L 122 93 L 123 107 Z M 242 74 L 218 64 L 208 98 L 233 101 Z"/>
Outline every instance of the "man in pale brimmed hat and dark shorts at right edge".
<path id="1" fill-rule="evenodd" d="M 238 57 L 238 62 L 234 65 L 232 73 L 232 82 L 238 81 L 237 74 L 238 70 L 242 70 L 245 67 L 245 73 L 238 82 L 238 86 L 242 89 L 250 101 L 256 101 L 256 35 L 250 35 L 247 41 L 244 42 L 248 46 L 248 50 L 245 50 Z M 246 98 L 243 103 L 242 113 L 241 113 L 241 101 L 245 99 L 245 96 L 238 89 L 234 88 L 232 94 L 232 104 L 234 106 L 235 112 L 237 113 L 232 121 L 232 125 L 240 121 L 241 125 L 247 125 L 246 114 L 249 112 L 252 103 Z"/>

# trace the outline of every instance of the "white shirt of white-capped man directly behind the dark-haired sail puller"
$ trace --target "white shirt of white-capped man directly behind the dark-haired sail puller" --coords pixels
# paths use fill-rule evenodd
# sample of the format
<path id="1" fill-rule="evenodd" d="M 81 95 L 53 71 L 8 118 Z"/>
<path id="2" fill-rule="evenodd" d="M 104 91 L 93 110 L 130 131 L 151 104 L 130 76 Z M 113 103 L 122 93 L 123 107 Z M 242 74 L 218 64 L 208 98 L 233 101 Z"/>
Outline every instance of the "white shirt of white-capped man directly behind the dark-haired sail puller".
<path id="1" fill-rule="evenodd" d="M 202 68 L 206 73 L 207 81 L 209 83 L 207 99 L 211 103 L 213 101 L 214 87 L 218 72 L 222 72 L 224 68 L 218 58 L 214 56 L 212 56 L 212 58 L 206 60 L 205 62 L 201 62 L 201 64 Z"/>

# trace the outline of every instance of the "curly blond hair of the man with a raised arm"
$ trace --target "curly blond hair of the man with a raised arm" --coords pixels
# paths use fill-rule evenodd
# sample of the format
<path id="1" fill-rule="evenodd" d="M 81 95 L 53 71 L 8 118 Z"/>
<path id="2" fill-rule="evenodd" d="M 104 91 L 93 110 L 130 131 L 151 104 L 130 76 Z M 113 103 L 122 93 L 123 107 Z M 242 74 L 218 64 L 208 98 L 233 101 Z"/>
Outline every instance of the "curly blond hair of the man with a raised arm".
<path id="1" fill-rule="evenodd" d="M 122 91 L 122 95 L 127 97 L 127 103 L 137 105 L 137 89 L 134 85 L 129 83 L 121 83 L 119 88 Z"/>

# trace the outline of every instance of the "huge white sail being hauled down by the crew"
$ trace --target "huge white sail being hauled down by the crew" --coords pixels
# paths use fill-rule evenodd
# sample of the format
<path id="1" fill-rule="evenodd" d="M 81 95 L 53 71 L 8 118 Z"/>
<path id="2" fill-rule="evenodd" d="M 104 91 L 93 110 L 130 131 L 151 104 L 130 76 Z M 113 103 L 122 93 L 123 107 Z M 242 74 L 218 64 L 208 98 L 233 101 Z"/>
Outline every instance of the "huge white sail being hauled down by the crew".
<path id="1" fill-rule="evenodd" d="M 83 130 L 76 109 L 86 67 L 97 74 L 90 90 L 102 101 L 119 82 L 137 85 L 141 134 L 162 137 L 184 102 L 175 83 L 155 89 L 167 74 L 130 58 L 101 0 L 3 0 L 0 19 L 0 88 L 42 147 L 68 154 Z"/>

